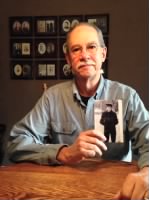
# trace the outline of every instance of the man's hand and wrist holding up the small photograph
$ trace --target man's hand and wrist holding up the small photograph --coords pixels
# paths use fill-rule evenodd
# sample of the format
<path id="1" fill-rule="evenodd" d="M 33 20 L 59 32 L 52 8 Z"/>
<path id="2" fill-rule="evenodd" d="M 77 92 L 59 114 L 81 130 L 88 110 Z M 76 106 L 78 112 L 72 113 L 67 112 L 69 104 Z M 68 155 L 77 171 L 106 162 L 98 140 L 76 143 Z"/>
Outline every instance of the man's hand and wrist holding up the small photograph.
<path id="1" fill-rule="evenodd" d="M 74 144 L 60 149 L 57 160 L 63 164 L 75 164 L 84 158 L 102 156 L 102 151 L 107 150 L 104 141 L 105 136 L 97 130 L 81 132 Z"/>

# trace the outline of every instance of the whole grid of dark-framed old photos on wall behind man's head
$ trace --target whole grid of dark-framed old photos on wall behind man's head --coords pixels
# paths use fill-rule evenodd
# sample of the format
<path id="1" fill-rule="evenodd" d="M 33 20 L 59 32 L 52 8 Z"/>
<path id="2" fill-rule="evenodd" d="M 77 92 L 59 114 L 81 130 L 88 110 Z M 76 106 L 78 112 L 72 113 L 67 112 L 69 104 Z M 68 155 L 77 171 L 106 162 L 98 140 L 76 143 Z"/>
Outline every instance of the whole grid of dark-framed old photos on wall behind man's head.
<path id="1" fill-rule="evenodd" d="M 65 61 L 66 34 L 74 25 L 95 23 L 109 39 L 109 15 L 13 16 L 9 17 L 10 73 L 12 79 L 71 79 Z M 108 74 L 108 58 L 103 64 Z"/>

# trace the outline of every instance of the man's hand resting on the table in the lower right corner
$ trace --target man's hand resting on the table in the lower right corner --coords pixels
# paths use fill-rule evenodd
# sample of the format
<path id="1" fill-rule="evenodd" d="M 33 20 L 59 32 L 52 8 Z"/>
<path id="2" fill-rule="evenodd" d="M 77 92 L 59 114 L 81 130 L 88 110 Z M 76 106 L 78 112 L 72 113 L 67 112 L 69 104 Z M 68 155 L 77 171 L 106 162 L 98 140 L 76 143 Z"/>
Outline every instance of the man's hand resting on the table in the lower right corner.
<path id="1" fill-rule="evenodd" d="M 149 167 L 126 177 L 122 189 L 113 200 L 145 200 L 149 199 Z"/>

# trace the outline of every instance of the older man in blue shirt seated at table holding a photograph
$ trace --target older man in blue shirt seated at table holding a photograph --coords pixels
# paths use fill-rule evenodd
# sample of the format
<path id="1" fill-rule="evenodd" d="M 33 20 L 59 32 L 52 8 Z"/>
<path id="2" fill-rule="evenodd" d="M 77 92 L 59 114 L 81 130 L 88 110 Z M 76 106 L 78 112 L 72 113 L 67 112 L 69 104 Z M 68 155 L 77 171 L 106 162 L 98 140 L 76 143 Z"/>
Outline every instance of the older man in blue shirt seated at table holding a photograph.
<path id="1" fill-rule="evenodd" d="M 139 154 L 140 171 L 130 174 L 116 199 L 143 200 L 149 184 L 149 113 L 136 91 L 101 75 L 107 49 L 100 30 L 80 23 L 67 35 L 66 60 L 74 80 L 49 88 L 34 109 L 10 134 L 8 153 L 14 162 L 74 164 L 84 158 L 104 156 L 130 160 Z M 124 146 L 106 146 L 106 137 L 94 130 L 96 99 L 123 99 Z M 127 148 L 127 150 L 126 150 Z M 120 155 L 116 155 L 119 153 Z"/>

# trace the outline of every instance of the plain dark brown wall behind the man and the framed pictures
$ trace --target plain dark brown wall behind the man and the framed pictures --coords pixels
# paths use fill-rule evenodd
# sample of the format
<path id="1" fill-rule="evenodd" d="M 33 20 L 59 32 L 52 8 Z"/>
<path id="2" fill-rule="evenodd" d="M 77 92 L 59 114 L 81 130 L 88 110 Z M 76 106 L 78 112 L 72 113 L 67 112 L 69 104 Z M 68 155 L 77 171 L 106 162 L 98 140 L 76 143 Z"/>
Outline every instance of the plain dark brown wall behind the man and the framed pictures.
<path id="1" fill-rule="evenodd" d="M 9 16 L 110 14 L 109 78 L 133 86 L 149 107 L 147 0 L 2 0 L 0 6 L 0 123 L 22 118 L 42 94 L 39 80 L 11 80 Z M 57 81 L 46 81 L 53 85 Z"/>

